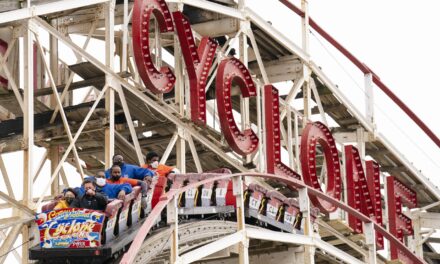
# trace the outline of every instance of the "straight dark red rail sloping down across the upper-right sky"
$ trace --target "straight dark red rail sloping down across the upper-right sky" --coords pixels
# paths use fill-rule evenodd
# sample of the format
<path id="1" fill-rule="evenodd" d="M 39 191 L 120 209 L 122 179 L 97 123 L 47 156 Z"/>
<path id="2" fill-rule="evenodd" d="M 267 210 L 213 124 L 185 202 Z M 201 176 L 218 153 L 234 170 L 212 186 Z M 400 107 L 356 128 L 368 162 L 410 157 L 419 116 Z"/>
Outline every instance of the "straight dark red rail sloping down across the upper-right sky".
<path id="1" fill-rule="evenodd" d="M 304 12 L 295 6 L 289 0 L 279 0 L 287 8 L 295 12 L 300 17 L 304 17 Z M 386 86 L 367 65 L 356 58 L 350 51 L 342 46 L 336 39 L 334 39 L 329 33 L 327 33 L 322 27 L 320 27 L 311 17 L 309 17 L 309 25 L 316 30 L 325 40 L 339 50 L 347 59 L 349 59 L 359 70 L 364 74 L 371 73 L 373 76 L 373 82 L 386 94 L 388 97 L 399 106 L 409 118 L 411 118 L 419 128 L 425 132 L 425 134 L 440 148 L 440 139 L 434 134 L 434 132 L 402 101 L 397 95 L 395 95 L 388 86 Z"/>

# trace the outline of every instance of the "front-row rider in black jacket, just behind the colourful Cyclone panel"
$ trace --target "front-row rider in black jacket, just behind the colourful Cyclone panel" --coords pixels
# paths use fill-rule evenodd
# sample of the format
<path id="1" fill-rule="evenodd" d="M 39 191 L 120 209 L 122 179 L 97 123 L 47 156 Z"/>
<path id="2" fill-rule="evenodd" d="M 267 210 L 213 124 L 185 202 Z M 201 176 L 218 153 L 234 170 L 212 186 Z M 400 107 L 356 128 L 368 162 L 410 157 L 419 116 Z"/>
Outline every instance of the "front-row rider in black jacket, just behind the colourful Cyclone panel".
<path id="1" fill-rule="evenodd" d="M 102 194 L 96 192 L 95 182 L 85 179 L 82 185 L 84 186 L 85 194 L 73 200 L 70 207 L 104 211 L 107 207 L 107 199 Z"/>

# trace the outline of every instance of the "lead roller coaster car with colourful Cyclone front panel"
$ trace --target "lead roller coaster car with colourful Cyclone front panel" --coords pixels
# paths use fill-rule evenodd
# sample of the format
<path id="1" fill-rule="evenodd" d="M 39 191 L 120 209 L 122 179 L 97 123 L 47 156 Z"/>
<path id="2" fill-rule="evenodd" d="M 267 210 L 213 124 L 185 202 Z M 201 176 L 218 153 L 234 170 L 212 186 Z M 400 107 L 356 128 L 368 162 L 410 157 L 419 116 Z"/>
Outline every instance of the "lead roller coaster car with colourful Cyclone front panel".
<path id="1" fill-rule="evenodd" d="M 53 210 L 57 200 L 42 207 L 36 222 L 40 245 L 29 258 L 42 263 L 103 263 L 118 256 L 142 225 L 141 188 L 124 200 L 111 201 L 105 211 L 81 208 Z"/>

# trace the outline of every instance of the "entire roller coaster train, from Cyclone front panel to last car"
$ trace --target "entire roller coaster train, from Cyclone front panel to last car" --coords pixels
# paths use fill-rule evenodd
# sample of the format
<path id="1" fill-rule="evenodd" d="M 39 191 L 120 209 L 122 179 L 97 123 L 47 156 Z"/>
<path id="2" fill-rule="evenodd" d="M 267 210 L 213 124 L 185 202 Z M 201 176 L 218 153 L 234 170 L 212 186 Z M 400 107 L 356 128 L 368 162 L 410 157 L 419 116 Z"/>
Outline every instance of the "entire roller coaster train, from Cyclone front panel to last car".
<path id="1" fill-rule="evenodd" d="M 146 216 L 165 192 L 224 173 L 231 172 L 221 169 L 210 173 L 154 177 L 146 197 L 142 197 L 140 187 L 134 187 L 124 200 L 111 201 L 104 212 L 78 208 L 53 210 L 59 201 L 59 198 L 55 199 L 44 205 L 43 213 L 36 217 L 40 245 L 30 249 L 29 257 L 43 263 L 113 262 L 134 239 Z M 199 219 L 206 219 L 206 215 L 233 219 L 236 198 L 232 186 L 232 179 L 228 178 L 208 181 L 188 189 L 178 197 L 179 215 Z M 287 198 L 259 184 L 243 187 L 246 223 L 286 232 L 301 232 L 302 214 L 295 198 Z M 317 209 L 312 210 L 312 221 L 318 214 Z M 156 224 L 165 224 L 166 221 L 162 221 L 165 215 L 163 212 L 156 219 Z"/>

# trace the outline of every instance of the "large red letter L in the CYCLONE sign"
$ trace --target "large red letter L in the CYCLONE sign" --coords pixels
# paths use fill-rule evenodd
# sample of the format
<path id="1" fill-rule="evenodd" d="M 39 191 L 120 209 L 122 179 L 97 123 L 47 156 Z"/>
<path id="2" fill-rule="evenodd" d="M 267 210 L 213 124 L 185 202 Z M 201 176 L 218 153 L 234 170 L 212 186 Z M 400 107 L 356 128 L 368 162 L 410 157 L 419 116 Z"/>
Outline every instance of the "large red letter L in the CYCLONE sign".
<path id="1" fill-rule="evenodd" d="M 287 175 L 300 180 L 298 173 L 281 162 L 280 102 L 278 90 L 272 85 L 264 86 L 264 113 L 267 173 Z"/>

